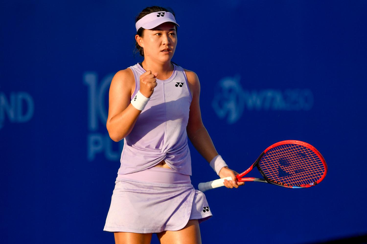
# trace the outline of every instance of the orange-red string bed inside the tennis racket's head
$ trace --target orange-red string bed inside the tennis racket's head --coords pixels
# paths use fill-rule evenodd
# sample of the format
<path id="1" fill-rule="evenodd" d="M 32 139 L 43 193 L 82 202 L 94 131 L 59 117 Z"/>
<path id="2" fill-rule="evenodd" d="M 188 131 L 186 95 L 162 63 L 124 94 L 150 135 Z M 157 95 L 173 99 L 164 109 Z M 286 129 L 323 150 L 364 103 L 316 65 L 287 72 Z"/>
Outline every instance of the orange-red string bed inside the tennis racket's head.
<path id="1" fill-rule="evenodd" d="M 262 156 L 259 167 L 269 180 L 288 186 L 313 185 L 325 171 L 312 149 L 297 144 L 270 149 Z"/>

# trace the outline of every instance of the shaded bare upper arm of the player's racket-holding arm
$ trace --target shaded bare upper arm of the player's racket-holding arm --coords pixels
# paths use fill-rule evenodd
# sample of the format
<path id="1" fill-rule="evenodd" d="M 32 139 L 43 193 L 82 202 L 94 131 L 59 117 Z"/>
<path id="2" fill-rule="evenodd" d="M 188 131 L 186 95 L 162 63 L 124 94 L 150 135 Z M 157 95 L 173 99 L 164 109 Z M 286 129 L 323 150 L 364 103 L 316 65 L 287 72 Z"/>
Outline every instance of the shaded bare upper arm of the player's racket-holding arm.
<path id="1" fill-rule="evenodd" d="M 199 77 L 197 74 L 190 70 L 185 70 L 186 77 L 189 83 L 190 91 L 192 92 L 192 101 L 190 105 L 190 112 L 189 112 L 189 121 L 187 125 L 187 132 L 188 135 L 190 133 L 196 132 L 196 130 L 203 127 L 203 121 L 201 121 L 201 112 L 200 112 L 200 82 Z"/>

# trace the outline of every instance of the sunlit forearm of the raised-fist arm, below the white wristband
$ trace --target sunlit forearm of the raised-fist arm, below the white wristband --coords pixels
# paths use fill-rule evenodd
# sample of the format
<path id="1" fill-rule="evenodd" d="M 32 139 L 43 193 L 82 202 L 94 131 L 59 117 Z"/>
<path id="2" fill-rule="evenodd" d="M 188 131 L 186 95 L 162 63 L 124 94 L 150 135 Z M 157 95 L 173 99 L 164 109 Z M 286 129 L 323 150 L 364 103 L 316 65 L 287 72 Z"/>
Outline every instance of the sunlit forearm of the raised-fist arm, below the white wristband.
<path id="1" fill-rule="evenodd" d="M 130 134 L 140 113 L 140 110 L 129 104 L 124 111 L 107 121 L 106 127 L 110 138 L 117 142 Z"/>

